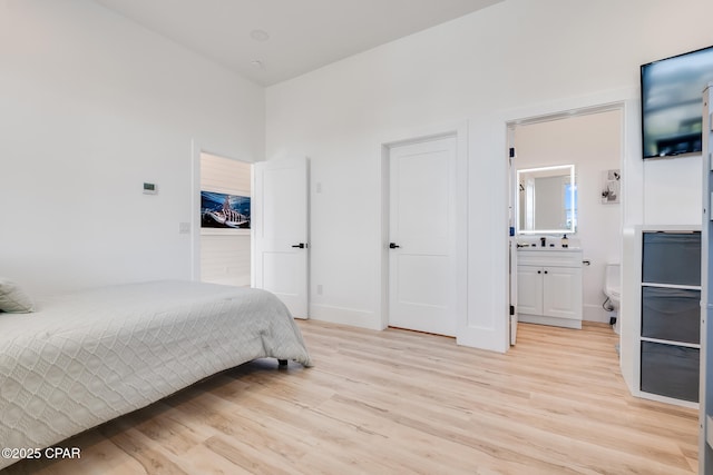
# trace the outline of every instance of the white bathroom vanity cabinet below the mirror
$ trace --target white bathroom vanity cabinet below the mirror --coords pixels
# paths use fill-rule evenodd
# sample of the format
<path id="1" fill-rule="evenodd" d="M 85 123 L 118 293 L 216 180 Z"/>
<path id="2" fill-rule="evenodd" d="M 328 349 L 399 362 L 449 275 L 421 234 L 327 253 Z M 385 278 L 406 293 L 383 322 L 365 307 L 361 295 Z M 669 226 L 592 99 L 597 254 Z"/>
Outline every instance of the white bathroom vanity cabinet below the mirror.
<path id="1" fill-rule="evenodd" d="M 518 320 L 582 328 L 582 249 L 520 248 Z"/>

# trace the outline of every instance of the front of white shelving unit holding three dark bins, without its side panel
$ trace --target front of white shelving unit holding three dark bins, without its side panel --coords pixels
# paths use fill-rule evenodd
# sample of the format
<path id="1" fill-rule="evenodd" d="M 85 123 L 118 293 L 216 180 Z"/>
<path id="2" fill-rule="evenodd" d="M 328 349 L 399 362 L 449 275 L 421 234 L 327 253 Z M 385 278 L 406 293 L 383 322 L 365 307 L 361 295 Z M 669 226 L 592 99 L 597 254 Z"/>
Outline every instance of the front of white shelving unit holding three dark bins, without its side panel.
<path id="1" fill-rule="evenodd" d="M 699 402 L 701 352 L 700 227 L 644 228 L 639 389 L 661 400 Z"/>

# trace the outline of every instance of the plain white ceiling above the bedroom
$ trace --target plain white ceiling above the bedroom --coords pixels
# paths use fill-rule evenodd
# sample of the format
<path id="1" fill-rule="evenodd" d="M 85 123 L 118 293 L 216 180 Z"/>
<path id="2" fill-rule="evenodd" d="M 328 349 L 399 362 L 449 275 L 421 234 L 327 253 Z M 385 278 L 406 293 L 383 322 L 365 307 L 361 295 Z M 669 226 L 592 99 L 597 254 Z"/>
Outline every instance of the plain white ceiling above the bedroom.
<path id="1" fill-rule="evenodd" d="M 262 85 L 502 0 L 94 0 Z"/>

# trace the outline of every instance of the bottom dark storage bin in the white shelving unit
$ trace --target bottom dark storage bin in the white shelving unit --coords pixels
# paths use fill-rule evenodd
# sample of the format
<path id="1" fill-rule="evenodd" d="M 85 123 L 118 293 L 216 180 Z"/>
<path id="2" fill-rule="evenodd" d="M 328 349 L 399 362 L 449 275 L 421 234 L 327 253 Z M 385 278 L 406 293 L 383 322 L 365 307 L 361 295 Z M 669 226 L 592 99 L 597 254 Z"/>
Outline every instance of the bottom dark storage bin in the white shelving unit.
<path id="1" fill-rule="evenodd" d="M 699 402 L 697 348 L 642 342 L 642 390 Z"/>

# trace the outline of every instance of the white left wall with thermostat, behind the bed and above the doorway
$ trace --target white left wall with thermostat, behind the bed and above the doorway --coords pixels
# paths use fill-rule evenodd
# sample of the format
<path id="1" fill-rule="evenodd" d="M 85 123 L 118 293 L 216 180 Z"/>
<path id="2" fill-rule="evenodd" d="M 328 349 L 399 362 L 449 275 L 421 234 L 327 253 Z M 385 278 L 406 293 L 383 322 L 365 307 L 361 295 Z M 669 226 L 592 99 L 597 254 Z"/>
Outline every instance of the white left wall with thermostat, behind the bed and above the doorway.
<path id="1" fill-rule="evenodd" d="M 264 91 L 91 1 L 0 0 L 0 274 L 191 278 L 192 140 L 262 159 Z"/>

